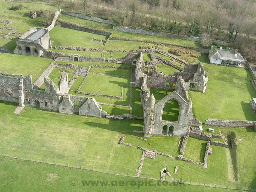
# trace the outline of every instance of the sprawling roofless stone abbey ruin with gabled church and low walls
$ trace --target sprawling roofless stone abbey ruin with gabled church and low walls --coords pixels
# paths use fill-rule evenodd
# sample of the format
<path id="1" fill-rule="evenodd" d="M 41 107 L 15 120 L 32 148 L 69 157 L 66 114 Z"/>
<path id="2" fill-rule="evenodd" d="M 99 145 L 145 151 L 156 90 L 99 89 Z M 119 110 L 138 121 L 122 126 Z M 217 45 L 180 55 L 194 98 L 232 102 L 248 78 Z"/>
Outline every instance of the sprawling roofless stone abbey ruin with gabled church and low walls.
<path id="1" fill-rule="evenodd" d="M 228 141 L 225 136 L 220 134 L 204 133 L 195 129 L 194 127 L 201 126 L 197 118 L 193 116 L 192 100 L 189 98 L 188 92 L 190 90 L 201 92 L 204 94 L 207 88 L 208 76 L 205 74 L 204 66 L 202 63 L 188 63 L 171 53 L 164 52 L 163 50 L 154 46 L 140 46 L 138 50 L 108 50 L 100 48 L 86 48 L 78 46 L 55 46 L 55 50 L 73 50 L 73 51 L 98 51 L 98 52 L 110 52 L 110 57 L 105 60 L 105 55 L 101 53 L 100 57 L 86 57 L 79 54 L 68 54 L 63 52 L 54 52 L 49 50 L 52 48 L 52 42 L 50 38 L 50 31 L 55 25 L 75 29 L 79 31 L 85 31 L 98 35 L 108 36 L 106 40 L 93 39 L 94 41 L 101 41 L 106 43 L 110 39 L 110 33 L 100 30 L 94 30 L 91 28 L 85 28 L 76 26 L 71 23 L 56 21 L 60 12 L 55 13 L 55 17 L 52 20 L 52 24 L 48 28 L 32 28 L 28 32 L 20 36 L 17 40 L 17 46 L 14 50 L 16 54 L 31 55 L 35 57 L 43 57 L 54 60 L 44 72 L 32 83 L 32 76 L 23 75 L 11 75 L 6 73 L 0 73 L 0 100 L 11 101 L 19 103 L 19 107 L 16 108 L 14 113 L 19 114 L 24 106 L 36 107 L 48 111 L 57 111 L 64 114 L 77 114 L 82 116 L 93 116 L 98 118 L 110 118 L 110 119 L 139 119 L 144 120 L 143 131 L 136 131 L 137 133 L 143 133 L 144 137 L 150 138 L 151 135 L 163 135 L 163 136 L 176 136 L 183 138 L 180 142 L 179 156 L 173 157 L 169 154 L 165 154 L 159 151 L 150 150 L 147 148 L 139 147 L 143 150 L 139 168 L 136 170 L 137 176 L 140 177 L 145 157 L 154 159 L 157 155 L 167 156 L 170 158 L 176 158 L 181 161 L 186 161 L 193 164 L 201 165 L 207 168 L 208 155 L 211 155 L 212 148 L 210 145 L 216 145 L 228 148 Z M 126 52 L 127 54 L 119 59 L 113 58 L 114 52 Z M 149 54 L 151 60 L 143 60 L 143 54 Z M 164 59 L 164 57 L 170 58 L 170 60 Z M 94 64 L 88 67 L 81 67 L 72 63 L 62 64 L 59 61 L 70 62 L 94 62 Z M 59 63 L 58 63 L 59 62 Z M 97 64 L 103 62 L 124 64 L 129 63 L 131 66 L 111 66 Z M 180 64 L 174 64 L 178 63 Z M 95 64 L 96 63 L 96 64 Z M 157 64 L 165 64 L 176 69 L 172 75 L 165 75 L 163 72 L 158 71 Z M 183 67 L 181 67 L 183 66 Z M 51 72 L 59 68 L 61 71 L 61 77 L 56 84 L 49 77 Z M 130 91 L 130 104 L 128 107 L 132 111 L 131 98 L 132 88 L 140 89 L 140 98 L 143 111 L 143 117 L 137 117 L 129 114 L 123 115 L 111 115 L 102 109 L 102 103 L 98 102 L 94 97 L 106 97 L 111 99 L 123 99 L 124 87 L 122 88 L 120 95 L 107 95 L 92 92 L 83 92 L 81 87 L 86 85 L 86 78 L 89 74 L 94 75 L 107 75 L 103 73 L 94 72 L 93 68 L 101 69 L 129 69 L 131 70 L 131 77 L 129 82 Z M 72 70 L 72 72 L 70 72 Z M 72 77 L 70 78 L 70 75 Z M 108 74 L 114 77 L 125 77 L 121 75 Z M 70 88 L 75 83 L 78 77 L 82 77 L 83 80 L 79 85 L 75 93 L 80 95 L 70 94 Z M 41 87 L 44 85 L 44 89 Z M 95 86 L 97 86 L 95 82 Z M 106 87 L 107 88 L 107 87 Z M 156 98 L 150 89 L 166 90 L 168 93 L 164 98 L 156 101 Z M 86 95 L 86 96 L 81 96 Z M 89 97 L 88 97 L 89 95 Z M 177 121 L 164 120 L 163 111 L 166 103 L 170 100 L 175 100 L 178 103 L 179 114 Z M 103 103 L 106 105 L 106 103 Z M 120 105 L 121 106 L 121 105 Z M 124 107 L 124 106 L 123 106 Z M 212 122 L 208 120 L 207 122 Z M 220 123 L 217 120 L 217 123 Z M 240 122 L 241 123 L 241 122 Z M 213 124 L 214 126 L 214 124 Z M 207 141 L 206 150 L 204 154 L 203 162 L 197 162 L 188 158 L 185 158 L 184 152 L 187 146 L 188 138 L 193 137 L 199 140 Z M 139 138 L 139 137 L 137 137 Z M 224 142 L 212 140 L 212 138 L 222 139 Z M 142 138 L 139 138 L 142 139 Z M 125 136 L 121 137 L 118 144 L 123 144 L 132 147 L 132 144 L 125 143 Z M 147 139 L 142 139 L 147 140 Z M 235 145 L 235 144 L 234 144 Z M 176 167 L 178 170 L 178 167 Z M 177 170 L 175 169 L 175 172 Z M 175 173 L 176 174 L 176 173 Z M 166 175 L 172 178 L 167 171 L 167 167 L 161 171 L 161 179 L 165 180 Z"/>

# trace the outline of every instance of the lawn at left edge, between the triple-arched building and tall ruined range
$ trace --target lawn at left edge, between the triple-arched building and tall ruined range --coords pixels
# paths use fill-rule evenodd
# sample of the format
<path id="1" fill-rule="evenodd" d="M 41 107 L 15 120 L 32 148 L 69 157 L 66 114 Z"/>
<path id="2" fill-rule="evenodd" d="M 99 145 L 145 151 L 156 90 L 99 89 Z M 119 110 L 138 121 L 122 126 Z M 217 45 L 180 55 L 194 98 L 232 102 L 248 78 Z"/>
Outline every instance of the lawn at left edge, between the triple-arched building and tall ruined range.
<path id="1" fill-rule="evenodd" d="M 51 64 L 52 60 L 27 55 L 0 53 L 0 71 L 10 74 L 32 75 L 34 82 Z"/>

